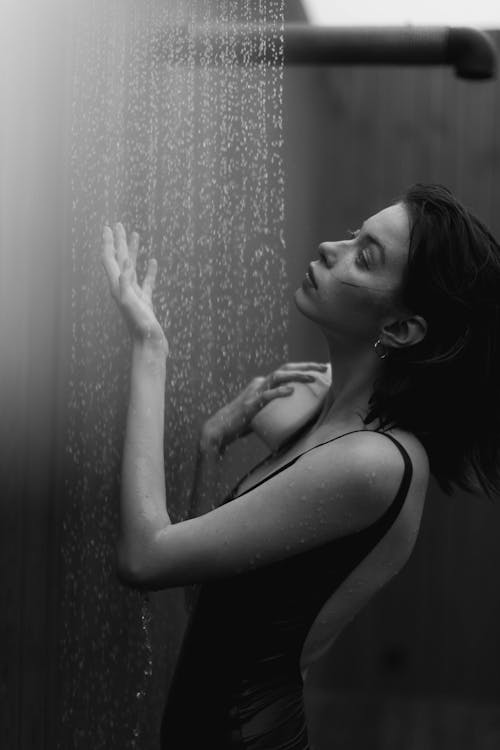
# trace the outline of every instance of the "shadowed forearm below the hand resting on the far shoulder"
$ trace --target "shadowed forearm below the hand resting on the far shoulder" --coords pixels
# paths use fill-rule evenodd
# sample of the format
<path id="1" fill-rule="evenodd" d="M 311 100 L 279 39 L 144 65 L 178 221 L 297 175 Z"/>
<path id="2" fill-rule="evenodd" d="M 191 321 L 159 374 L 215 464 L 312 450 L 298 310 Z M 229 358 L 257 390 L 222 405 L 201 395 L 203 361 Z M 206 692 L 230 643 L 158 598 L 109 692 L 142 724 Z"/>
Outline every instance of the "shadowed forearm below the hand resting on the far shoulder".
<path id="1" fill-rule="evenodd" d="M 198 442 L 193 487 L 189 499 L 188 517 L 194 518 L 217 507 L 216 497 L 222 464 L 219 440 L 202 430 Z"/>

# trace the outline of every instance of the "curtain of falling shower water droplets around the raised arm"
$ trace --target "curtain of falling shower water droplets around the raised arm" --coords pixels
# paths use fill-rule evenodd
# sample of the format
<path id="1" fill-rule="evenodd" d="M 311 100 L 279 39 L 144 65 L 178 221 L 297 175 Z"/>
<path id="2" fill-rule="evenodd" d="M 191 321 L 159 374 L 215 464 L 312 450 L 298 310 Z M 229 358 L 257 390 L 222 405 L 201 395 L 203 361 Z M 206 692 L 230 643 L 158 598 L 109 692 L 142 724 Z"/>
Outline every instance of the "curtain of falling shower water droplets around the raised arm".
<path id="1" fill-rule="evenodd" d="M 179 592 L 149 601 L 115 575 L 130 342 L 100 262 L 102 226 L 139 232 L 139 281 L 158 260 L 167 502 L 181 521 L 201 424 L 287 359 L 283 0 L 75 0 L 73 17 L 59 747 L 146 750 L 184 612 Z M 274 37 L 238 58 L 236 27 L 269 24 Z"/>

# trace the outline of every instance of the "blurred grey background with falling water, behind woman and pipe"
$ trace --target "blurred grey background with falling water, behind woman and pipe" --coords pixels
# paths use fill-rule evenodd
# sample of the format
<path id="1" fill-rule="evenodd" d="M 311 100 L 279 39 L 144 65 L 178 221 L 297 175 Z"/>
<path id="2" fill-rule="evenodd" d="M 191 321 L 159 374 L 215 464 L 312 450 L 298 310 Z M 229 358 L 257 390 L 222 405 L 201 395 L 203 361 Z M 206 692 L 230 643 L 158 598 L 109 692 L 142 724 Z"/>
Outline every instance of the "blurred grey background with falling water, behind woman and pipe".
<path id="1" fill-rule="evenodd" d="M 323 6 L 329 16 L 299 0 L 2 3 L 6 750 L 152 750 L 186 625 L 181 588 L 145 599 L 114 575 L 129 347 L 99 265 L 102 224 L 139 231 L 160 261 L 174 521 L 203 420 L 258 373 L 325 360 L 293 303 L 319 242 L 416 181 L 443 183 L 500 236 L 498 79 L 281 67 L 283 21 L 377 21 L 367 3 L 356 17 L 354 0 Z M 397 25 L 432 23 L 398 7 Z M 500 19 L 470 10 L 476 19 L 444 11 L 435 23 L 479 25 L 498 46 Z M 221 19 L 274 24 L 273 65 L 238 67 L 228 43 L 223 59 L 207 46 L 195 66 L 171 29 Z M 233 446 L 221 496 L 265 452 L 255 437 Z M 499 516 L 485 497 L 446 497 L 431 480 L 412 559 L 308 688 L 318 750 L 500 747 Z"/>

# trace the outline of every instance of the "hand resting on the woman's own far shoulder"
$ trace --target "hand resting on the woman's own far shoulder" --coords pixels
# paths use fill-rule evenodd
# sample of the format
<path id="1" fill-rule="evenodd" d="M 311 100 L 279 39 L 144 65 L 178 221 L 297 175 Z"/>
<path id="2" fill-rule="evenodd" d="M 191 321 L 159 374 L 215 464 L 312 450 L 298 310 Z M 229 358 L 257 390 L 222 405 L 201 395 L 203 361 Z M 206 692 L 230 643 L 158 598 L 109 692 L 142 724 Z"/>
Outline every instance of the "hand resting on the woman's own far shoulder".
<path id="1" fill-rule="evenodd" d="M 233 401 L 205 422 L 203 437 L 224 450 L 234 440 L 252 431 L 252 419 L 266 404 L 275 398 L 290 396 L 293 393 L 291 383 L 315 382 L 324 386 L 326 393 L 330 381 L 329 363 L 288 362 L 266 377 L 253 378 Z"/>

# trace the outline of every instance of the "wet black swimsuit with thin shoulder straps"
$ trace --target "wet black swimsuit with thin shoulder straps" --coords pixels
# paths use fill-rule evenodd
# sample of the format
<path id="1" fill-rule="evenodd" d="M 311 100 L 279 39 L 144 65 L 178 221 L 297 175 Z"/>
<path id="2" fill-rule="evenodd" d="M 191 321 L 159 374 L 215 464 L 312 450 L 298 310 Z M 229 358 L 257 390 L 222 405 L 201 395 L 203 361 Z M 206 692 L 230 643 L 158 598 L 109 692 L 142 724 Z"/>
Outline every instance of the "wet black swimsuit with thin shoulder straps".
<path id="1" fill-rule="evenodd" d="M 377 431 L 352 430 L 320 445 L 353 432 Z M 300 674 L 305 638 L 326 600 L 388 532 L 412 478 L 405 448 L 392 435 L 378 434 L 392 440 L 404 461 L 396 497 L 378 520 L 257 570 L 198 585 L 163 715 L 162 750 L 308 748 Z M 238 487 L 269 457 L 223 504 L 241 497 Z"/>

